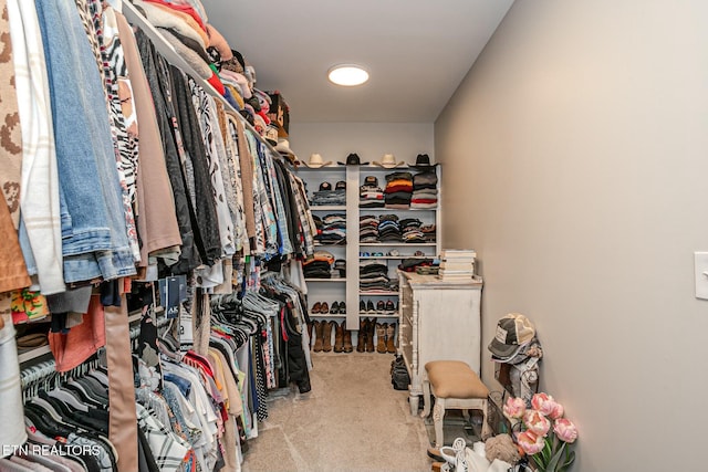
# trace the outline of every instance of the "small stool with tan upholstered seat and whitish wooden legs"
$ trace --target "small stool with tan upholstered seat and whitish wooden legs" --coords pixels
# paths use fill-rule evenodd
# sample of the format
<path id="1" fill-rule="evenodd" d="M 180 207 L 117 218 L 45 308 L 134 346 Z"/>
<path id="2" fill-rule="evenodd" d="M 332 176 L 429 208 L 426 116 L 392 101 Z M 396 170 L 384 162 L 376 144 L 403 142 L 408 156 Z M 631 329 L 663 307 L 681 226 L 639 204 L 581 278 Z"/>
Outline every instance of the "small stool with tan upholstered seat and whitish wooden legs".
<path id="1" fill-rule="evenodd" d="M 487 423 L 489 389 L 466 363 L 433 360 L 425 365 L 423 418 L 430 413 L 430 394 L 435 397 L 433 421 L 436 448 L 442 445 L 442 420 L 445 411 L 449 409 L 462 410 L 468 420 L 469 410 L 482 410 L 481 439 L 485 440 L 491 436 L 491 428 Z"/>

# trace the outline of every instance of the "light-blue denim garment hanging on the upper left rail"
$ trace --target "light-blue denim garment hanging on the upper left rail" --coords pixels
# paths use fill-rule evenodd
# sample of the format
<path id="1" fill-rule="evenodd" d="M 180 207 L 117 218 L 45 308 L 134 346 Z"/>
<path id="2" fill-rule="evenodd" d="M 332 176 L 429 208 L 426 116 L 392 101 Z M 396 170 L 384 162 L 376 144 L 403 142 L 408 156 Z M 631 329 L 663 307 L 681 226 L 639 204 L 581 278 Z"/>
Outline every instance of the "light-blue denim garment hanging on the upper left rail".
<path id="1" fill-rule="evenodd" d="M 74 2 L 37 0 L 59 167 L 64 279 L 135 273 L 103 81 Z"/>

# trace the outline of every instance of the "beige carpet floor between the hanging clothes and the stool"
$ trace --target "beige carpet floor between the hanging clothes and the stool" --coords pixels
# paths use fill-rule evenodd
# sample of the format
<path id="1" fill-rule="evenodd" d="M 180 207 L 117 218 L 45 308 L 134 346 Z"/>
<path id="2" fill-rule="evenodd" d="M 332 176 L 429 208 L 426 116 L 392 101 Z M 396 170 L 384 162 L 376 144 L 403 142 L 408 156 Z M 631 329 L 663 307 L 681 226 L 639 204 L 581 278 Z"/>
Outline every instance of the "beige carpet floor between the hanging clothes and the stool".
<path id="1" fill-rule="evenodd" d="M 424 421 L 391 385 L 392 354 L 312 356 L 312 391 L 269 401 L 244 472 L 430 470 Z"/>

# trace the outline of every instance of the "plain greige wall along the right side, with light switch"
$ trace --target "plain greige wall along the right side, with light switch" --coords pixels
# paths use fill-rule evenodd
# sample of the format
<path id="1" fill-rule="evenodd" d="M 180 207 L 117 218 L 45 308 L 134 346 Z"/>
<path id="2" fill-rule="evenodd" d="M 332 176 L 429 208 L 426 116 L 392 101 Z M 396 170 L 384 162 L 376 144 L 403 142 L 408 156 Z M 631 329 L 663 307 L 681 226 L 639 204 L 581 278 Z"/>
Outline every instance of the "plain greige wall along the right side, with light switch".
<path id="1" fill-rule="evenodd" d="M 535 323 L 574 471 L 706 469 L 706 24 L 701 0 L 517 0 L 435 124 L 444 245 L 478 252 L 482 339 Z"/>

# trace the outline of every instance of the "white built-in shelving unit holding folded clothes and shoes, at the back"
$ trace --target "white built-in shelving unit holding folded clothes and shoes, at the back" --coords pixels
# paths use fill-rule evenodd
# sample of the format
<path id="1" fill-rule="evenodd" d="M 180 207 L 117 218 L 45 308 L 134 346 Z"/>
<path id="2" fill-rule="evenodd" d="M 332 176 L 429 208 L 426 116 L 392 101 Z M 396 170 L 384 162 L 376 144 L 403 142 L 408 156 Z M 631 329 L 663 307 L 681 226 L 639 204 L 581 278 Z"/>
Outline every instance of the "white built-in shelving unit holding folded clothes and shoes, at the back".
<path id="1" fill-rule="evenodd" d="M 315 250 L 331 252 L 335 260 L 346 260 L 346 276 L 340 279 L 305 279 L 308 283 L 309 313 L 313 321 L 333 321 L 342 325 L 343 329 L 353 332 L 353 345 L 358 346 L 360 327 L 366 328 L 366 333 L 373 336 L 376 334 L 376 344 L 373 350 L 378 349 L 378 333 L 376 328 L 386 326 L 387 352 L 391 348 L 388 337 L 392 326 L 395 329 L 393 336 L 398 337 L 397 322 L 399 317 L 398 290 L 391 291 L 366 291 L 360 290 L 360 263 L 376 261 L 387 268 L 387 275 L 393 281 L 398 281 L 398 265 L 404 259 L 433 259 L 440 253 L 440 222 L 441 222 L 441 186 L 440 166 L 435 167 L 438 178 L 437 195 L 438 206 L 434 209 L 391 209 L 391 208 L 360 208 L 360 187 L 367 176 L 374 176 L 378 180 L 382 189 L 386 187 L 386 175 L 395 171 L 409 171 L 413 175 L 419 169 L 408 166 L 395 168 L 384 168 L 379 166 L 324 166 L 320 168 L 301 167 L 298 175 L 303 179 L 311 197 L 320 189 L 322 182 L 331 183 L 335 188 L 336 182 L 346 182 L 346 204 L 345 206 L 312 206 L 313 216 L 324 218 L 331 213 L 346 213 L 346 244 L 316 244 Z M 379 218 L 383 214 L 396 214 L 399 219 L 414 218 L 423 221 L 424 224 L 436 225 L 435 242 L 360 242 L 360 217 L 373 216 Z M 398 284 L 394 284 L 397 286 Z M 345 305 L 345 310 L 336 310 L 331 313 L 334 303 Z M 363 302 L 363 305 L 362 305 Z M 329 313 L 322 313 L 322 307 L 326 303 Z M 319 304 L 319 305 L 317 305 Z M 393 305 L 393 308 L 392 308 Z M 314 310 L 313 310 L 314 308 Z M 375 322 L 373 319 L 375 318 Z M 368 322 L 367 325 L 364 322 Z M 379 326 L 376 326 L 376 325 Z M 334 336 L 336 325 L 331 327 Z M 373 340 L 371 342 L 374 343 Z M 334 345 L 334 343 L 332 343 Z M 369 346 L 371 348 L 371 346 Z M 364 352 L 367 352 L 364 347 Z M 368 350 L 371 352 L 371 350 Z"/>

